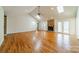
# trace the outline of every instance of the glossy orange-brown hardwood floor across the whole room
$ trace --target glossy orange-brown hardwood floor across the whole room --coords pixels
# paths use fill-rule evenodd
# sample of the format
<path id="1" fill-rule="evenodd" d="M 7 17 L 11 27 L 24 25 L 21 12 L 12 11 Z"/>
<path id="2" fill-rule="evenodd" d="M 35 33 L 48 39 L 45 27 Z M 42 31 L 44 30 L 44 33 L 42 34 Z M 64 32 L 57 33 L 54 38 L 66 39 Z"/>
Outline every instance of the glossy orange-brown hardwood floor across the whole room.
<path id="1" fill-rule="evenodd" d="M 79 40 L 75 35 L 35 31 L 9 34 L 4 38 L 0 52 L 5 53 L 79 52 Z"/>

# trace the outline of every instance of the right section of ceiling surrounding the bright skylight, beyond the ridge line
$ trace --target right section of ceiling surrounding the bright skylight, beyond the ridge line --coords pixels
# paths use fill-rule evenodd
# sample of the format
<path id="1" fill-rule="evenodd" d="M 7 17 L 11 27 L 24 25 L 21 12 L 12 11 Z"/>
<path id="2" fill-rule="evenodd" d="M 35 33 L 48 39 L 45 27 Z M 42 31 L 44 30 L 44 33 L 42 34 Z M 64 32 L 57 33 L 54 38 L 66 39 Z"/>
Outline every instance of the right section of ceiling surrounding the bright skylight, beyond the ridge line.
<path id="1" fill-rule="evenodd" d="M 53 8 L 53 10 L 51 10 Z M 37 13 L 37 10 L 35 9 L 31 15 L 35 16 Z M 51 18 L 69 18 L 69 17 L 75 17 L 77 13 L 77 7 L 76 6 L 65 6 L 63 13 L 58 13 L 56 6 L 42 6 L 40 7 L 40 13 L 45 19 L 51 19 Z"/>

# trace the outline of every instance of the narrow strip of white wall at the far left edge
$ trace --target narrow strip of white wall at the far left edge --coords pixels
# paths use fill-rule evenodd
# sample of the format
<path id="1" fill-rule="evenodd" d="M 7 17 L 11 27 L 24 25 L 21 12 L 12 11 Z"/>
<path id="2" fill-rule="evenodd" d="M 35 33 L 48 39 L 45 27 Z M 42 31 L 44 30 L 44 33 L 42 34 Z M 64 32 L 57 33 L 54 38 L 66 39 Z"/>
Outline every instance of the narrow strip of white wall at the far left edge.
<path id="1" fill-rule="evenodd" d="M 0 45 L 4 40 L 4 11 L 3 8 L 0 7 Z"/>

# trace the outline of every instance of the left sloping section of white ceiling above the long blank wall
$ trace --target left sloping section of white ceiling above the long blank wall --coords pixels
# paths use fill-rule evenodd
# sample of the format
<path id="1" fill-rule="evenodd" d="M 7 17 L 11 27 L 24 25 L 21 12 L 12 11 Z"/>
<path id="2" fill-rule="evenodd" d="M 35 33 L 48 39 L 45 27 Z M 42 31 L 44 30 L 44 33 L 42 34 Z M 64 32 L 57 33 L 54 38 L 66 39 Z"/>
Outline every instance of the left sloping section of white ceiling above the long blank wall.
<path id="1" fill-rule="evenodd" d="M 5 15 L 19 16 L 30 13 L 35 6 L 3 6 Z"/>

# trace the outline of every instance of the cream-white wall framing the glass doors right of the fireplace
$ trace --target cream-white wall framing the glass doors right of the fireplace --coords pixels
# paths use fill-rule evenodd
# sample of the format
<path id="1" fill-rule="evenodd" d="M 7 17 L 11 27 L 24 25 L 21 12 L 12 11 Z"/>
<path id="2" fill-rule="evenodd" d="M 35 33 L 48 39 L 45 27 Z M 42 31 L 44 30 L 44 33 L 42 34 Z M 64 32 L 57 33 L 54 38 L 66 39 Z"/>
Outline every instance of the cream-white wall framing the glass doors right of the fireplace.
<path id="1" fill-rule="evenodd" d="M 63 21 L 69 21 L 69 23 L 70 23 L 70 34 L 76 34 L 76 23 L 75 23 L 75 21 L 76 21 L 76 19 L 75 18 L 66 18 L 66 19 L 56 19 L 55 20 L 55 32 L 57 32 L 57 22 L 58 21 L 61 21 L 61 22 L 63 22 Z"/>

